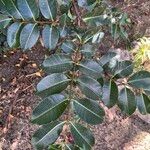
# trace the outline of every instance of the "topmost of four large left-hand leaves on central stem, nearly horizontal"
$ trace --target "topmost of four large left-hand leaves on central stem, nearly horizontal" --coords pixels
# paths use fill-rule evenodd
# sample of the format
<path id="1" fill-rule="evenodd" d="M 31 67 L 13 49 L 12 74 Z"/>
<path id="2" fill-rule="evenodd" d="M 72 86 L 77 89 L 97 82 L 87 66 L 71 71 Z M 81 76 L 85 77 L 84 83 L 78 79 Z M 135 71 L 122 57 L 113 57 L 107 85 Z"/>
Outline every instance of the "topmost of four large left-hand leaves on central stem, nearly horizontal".
<path id="1" fill-rule="evenodd" d="M 48 73 L 61 73 L 71 70 L 73 62 L 68 55 L 55 54 L 46 58 L 43 62 L 43 66 Z"/>

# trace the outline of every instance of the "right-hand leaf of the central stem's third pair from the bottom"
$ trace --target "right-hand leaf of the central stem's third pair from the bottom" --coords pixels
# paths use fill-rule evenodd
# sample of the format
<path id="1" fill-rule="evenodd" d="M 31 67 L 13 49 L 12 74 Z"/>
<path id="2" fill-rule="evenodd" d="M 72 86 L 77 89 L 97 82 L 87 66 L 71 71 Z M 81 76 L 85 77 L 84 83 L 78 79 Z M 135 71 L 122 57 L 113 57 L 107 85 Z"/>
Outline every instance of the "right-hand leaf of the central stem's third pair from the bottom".
<path id="1" fill-rule="evenodd" d="M 81 76 L 77 80 L 82 93 L 93 100 L 99 100 L 102 94 L 101 86 L 95 79 L 88 76 Z"/>

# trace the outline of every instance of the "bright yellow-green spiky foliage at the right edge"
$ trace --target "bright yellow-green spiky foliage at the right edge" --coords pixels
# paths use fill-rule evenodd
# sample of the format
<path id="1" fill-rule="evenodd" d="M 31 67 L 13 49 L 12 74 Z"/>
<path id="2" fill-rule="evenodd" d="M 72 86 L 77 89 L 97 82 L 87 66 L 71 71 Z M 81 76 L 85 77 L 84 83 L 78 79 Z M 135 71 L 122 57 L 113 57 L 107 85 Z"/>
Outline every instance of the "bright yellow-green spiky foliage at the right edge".
<path id="1" fill-rule="evenodd" d="M 144 67 L 144 69 L 148 70 L 149 66 L 146 67 L 146 65 L 148 65 L 147 62 L 150 62 L 150 38 L 140 38 L 137 43 L 137 48 L 133 50 L 133 53 L 135 53 L 135 68 L 142 69 Z"/>

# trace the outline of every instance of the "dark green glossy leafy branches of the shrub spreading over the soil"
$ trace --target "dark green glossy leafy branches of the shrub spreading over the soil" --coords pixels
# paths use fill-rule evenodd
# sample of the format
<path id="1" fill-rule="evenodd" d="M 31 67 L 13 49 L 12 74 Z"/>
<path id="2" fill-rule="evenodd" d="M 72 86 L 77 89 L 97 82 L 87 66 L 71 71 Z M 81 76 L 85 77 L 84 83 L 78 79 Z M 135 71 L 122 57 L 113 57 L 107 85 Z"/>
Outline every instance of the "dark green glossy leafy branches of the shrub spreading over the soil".
<path id="1" fill-rule="evenodd" d="M 108 23 L 102 1 L 0 0 L 0 6 L 10 47 L 25 51 L 41 37 L 55 51 L 44 60 L 47 76 L 37 85 L 42 101 L 31 118 L 41 125 L 32 138 L 35 149 L 92 149 L 94 136 L 85 123 L 104 120 L 100 102 L 118 105 L 128 116 L 137 107 L 150 113 L 150 73 L 133 73 L 132 62 L 117 60 L 114 52 L 96 53 Z"/>

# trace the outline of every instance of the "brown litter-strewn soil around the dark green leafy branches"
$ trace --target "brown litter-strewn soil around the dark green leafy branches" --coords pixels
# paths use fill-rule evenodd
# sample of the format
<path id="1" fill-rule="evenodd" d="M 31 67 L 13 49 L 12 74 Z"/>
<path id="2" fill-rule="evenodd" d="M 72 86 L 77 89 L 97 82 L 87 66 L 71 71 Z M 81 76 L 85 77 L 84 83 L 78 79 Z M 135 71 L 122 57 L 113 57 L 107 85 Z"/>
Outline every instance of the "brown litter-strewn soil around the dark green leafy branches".
<path id="1" fill-rule="evenodd" d="M 112 0 L 112 4 L 115 2 Z M 117 7 L 133 20 L 135 36 L 148 34 L 150 1 L 118 0 Z M 135 38 L 135 37 L 134 37 Z M 30 123 L 39 102 L 35 87 L 44 73 L 40 64 L 44 49 L 38 45 L 23 53 L 13 50 L 0 56 L 0 150 L 32 150 L 31 136 L 37 126 Z M 135 113 L 127 118 L 118 108 L 107 110 L 104 123 L 94 126 L 94 150 L 150 150 L 150 125 Z"/>

